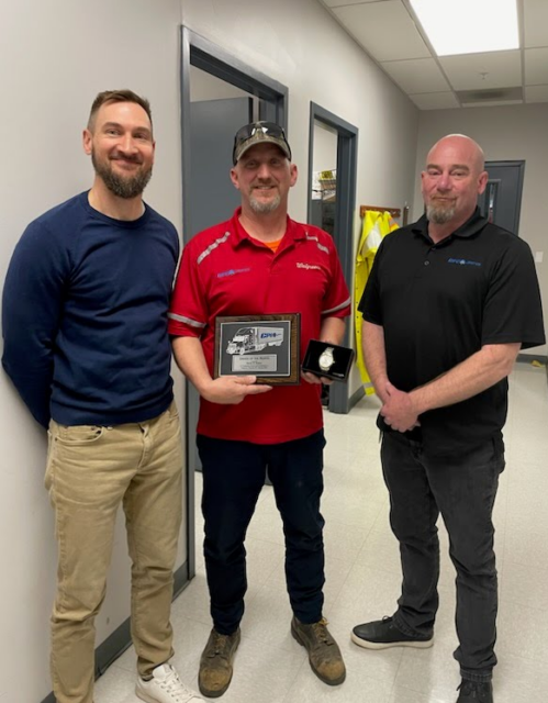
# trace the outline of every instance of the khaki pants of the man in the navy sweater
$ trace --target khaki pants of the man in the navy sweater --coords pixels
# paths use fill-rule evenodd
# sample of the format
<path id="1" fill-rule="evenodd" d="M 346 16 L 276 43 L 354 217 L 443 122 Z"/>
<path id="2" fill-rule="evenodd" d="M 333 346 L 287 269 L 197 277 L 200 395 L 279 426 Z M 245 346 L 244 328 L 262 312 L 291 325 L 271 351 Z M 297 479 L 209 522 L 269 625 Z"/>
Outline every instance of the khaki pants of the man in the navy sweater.
<path id="1" fill-rule="evenodd" d="M 181 483 L 175 403 L 154 420 L 114 427 L 51 422 L 45 484 L 58 542 L 51 659 L 58 703 L 92 703 L 94 617 L 105 595 L 121 503 L 133 562 L 132 638 L 139 674 L 149 677 L 172 656 Z"/>

